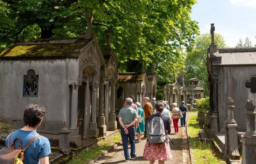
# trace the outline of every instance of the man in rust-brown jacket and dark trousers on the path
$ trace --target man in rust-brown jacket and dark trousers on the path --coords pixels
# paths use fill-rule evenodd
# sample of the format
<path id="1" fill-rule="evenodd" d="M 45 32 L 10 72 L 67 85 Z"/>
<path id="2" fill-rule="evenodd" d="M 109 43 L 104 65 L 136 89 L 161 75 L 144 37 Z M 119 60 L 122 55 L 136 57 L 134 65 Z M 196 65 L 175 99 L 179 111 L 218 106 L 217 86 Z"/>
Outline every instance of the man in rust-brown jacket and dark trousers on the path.
<path id="1" fill-rule="evenodd" d="M 148 117 L 153 114 L 153 106 L 149 102 L 148 97 L 144 98 L 144 104 L 145 105 L 143 106 L 143 110 L 144 110 L 144 113 L 145 113 L 145 131 L 144 131 L 144 137 L 143 138 L 147 138 Z"/>

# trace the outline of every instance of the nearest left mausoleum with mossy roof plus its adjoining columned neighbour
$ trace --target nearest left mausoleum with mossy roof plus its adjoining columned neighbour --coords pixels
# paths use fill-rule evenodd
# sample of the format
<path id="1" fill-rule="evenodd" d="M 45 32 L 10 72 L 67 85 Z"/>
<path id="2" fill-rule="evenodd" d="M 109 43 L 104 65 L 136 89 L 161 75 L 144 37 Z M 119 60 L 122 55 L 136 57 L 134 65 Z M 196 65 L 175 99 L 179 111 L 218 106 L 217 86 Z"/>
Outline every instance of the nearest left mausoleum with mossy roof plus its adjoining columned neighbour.
<path id="1" fill-rule="evenodd" d="M 107 46 L 101 51 L 87 13 L 85 35 L 75 39 L 39 39 L 15 43 L 0 54 L 0 122 L 23 126 L 28 104 L 46 114 L 38 132 L 58 139 L 66 127 L 70 140 L 105 136 L 116 130 L 114 113 L 117 60 Z"/>

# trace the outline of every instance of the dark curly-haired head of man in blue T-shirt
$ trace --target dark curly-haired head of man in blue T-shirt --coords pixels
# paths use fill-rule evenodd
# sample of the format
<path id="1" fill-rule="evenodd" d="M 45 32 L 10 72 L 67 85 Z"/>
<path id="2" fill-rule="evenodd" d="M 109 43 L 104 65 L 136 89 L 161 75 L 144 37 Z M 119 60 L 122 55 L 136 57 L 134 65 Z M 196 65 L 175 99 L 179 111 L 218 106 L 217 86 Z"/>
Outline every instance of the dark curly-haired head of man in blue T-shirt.
<path id="1" fill-rule="evenodd" d="M 45 115 L 45 108 L 36 104 L 29 104 L 26 106 L 23 115 L 23 121 L 25 126 L 36 127 L 42 122 L 42 118 Z"/>

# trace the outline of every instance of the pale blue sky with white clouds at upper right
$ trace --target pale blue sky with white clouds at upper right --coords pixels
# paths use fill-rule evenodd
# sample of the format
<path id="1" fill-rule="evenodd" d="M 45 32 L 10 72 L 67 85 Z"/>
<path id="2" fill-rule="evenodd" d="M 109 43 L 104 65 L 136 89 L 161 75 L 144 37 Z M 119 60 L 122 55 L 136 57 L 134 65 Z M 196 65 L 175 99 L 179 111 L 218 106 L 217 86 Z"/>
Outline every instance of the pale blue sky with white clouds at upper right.
<path id="1" fill-rule="evenodd" d="M 197 0 L 191 17 L 199 22 L 200 33 L 209 33 L 211 23 L 228 47 L 249 37 L 256 44 L 256 0 Z"/>

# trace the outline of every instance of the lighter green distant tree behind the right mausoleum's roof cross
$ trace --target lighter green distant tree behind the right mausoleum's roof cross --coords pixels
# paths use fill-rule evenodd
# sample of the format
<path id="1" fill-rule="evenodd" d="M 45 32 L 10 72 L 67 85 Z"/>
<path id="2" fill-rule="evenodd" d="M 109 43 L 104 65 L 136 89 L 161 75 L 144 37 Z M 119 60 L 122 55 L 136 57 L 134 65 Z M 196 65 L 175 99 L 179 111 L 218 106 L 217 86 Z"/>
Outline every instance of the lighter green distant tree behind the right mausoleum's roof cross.
<path id="1" fill-rule="evenodd" d="M 214 42 L 218 48 L 227 47 L 225 44 L 225 40 L 220 34 L 214 34 Z M 199 85 L 205 89 L 204 94 L 208 94 L 208 73 L 206 66 L 207 59 L 207 48 L 211 44 L 211 34 L 201 34 L 195 40 L 195 45 L 191 52 L 187 53 L 187 57 L 185 60 L 186 66 L 186 80 L 191 78 L 199 78 Z"/>

